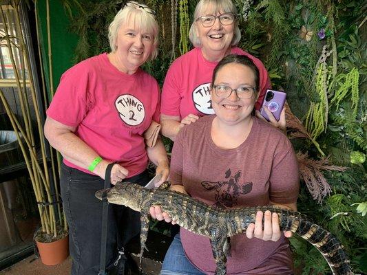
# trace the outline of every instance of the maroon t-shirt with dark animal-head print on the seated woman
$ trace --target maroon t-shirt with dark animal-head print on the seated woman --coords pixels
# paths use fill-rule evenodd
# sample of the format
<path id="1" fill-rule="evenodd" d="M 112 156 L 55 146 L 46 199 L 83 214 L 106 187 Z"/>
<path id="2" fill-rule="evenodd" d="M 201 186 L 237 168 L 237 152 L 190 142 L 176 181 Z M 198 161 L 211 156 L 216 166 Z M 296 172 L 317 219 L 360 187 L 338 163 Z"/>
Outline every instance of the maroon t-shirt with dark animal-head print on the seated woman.
<path id="1" fill-rule="evenodd" d="M 196 199 L 213 206 L 266 206 L 294 203 L 299 192 L 299 170 L 291 142 L 279 130 L 253 118 L 240 146 L 222 149 L 211 139 L 215 115 L 185 126 L 176 138 L 170 180 Z M 214 274 L 209 238 L 180 230 L 187 258 L 205 274 Z M 293 274 L 289 243 L 231 237 L 227 274 Z"/>

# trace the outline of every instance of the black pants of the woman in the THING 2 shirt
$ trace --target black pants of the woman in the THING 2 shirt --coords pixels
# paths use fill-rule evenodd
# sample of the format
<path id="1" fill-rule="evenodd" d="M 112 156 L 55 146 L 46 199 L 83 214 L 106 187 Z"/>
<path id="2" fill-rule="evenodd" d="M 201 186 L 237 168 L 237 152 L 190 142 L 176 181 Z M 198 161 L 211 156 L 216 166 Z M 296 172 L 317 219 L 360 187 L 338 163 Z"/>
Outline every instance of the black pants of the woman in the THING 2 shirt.
<path id="1" fill-rule="evenodd" d="M 145 186 L 147 171 L 124 179 Z M 103 189 L 101 177 L 83 173 L 65 164 L 61 167 L 61 197 L 69 225 L 72 275 L 96 275 L 101 250 L 101 221 L 103 203 L 94 197 Z M 125 206 L 109 204 L 106 265 L 117 256 L 117 247 L 125 245 L 140 232 L 140 213 Z"/>

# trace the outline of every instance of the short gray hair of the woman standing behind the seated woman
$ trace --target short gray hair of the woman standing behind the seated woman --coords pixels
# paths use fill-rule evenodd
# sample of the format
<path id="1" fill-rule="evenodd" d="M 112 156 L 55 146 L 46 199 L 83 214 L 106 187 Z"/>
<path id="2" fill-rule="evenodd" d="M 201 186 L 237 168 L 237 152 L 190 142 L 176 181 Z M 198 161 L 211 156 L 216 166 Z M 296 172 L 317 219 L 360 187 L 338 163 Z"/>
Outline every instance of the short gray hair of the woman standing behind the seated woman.
<path id="1" fill-rule="evenodd" d="M 237 17 L 237 8 L 231 0 L 200 0 L 198 5 L 196 5 L 195 12 L 193 12 L 193 23 L 191 24 L 189 39 L 194 47 L 201 47 L 200 38 L 196 32 L 195 24 L 196 19 L 202 15 L 202 12 L 207 10 L 207 8 L 211 5 L 213 10 L 211 12 L 216 14 L 217 12 L 232 12 Z M 233 39 L 231 45 L 237 45 L 241 39 L 240 28 L 238 28 L 238 21 L 235 19 L 234 21 L 235 29 L 233 34 Z"/>

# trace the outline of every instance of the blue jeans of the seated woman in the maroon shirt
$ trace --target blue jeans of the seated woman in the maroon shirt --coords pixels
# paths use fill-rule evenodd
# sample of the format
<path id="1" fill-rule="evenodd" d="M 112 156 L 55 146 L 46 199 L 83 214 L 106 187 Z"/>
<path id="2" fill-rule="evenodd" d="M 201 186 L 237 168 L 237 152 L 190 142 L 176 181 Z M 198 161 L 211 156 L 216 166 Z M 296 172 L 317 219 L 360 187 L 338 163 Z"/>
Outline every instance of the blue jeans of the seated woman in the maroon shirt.
<path id="1" fill-rule="evenodd" d="M 160 275 L 205 275 L 187 259 L 180 234 L 176 234 L 167 250 Z"/>

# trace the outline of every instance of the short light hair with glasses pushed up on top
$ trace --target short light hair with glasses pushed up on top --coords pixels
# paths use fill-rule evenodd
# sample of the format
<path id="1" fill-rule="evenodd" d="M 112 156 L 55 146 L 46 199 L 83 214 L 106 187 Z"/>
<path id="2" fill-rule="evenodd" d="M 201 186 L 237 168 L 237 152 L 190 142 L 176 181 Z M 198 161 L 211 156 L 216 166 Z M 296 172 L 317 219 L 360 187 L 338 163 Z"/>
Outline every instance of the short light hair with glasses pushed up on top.
<path id="1" fill-rule="evenodd" d="M 147 5 L 130 1 L 132 3 L 137 3 L 138 5 L 145 6 Z M 140 8 L 134 8 L 131 6 L 125 5 L 125 7 L 119 10 L 114 17 L 114 20 L 111 24 L 109 24 L 108 28 L 108 39 L 109 39 L 109 47 L 111 47 L 112 52 L 116 52 L 116 40 L 118 35 L 118 30 L 122 25 L 125 25 L 128 22 L 133 22 L 135 26 L 140 28 L 140 30 L 148 32 L 151 36 L 154 37 L 153 47 L 154 50 L 151 52 L 149 59 L 152 60 L 156 58 L 158 55 L 158 32 L 159 27 L 156 21 L 156 18 L 153 14 L 146 12 Z"/>

